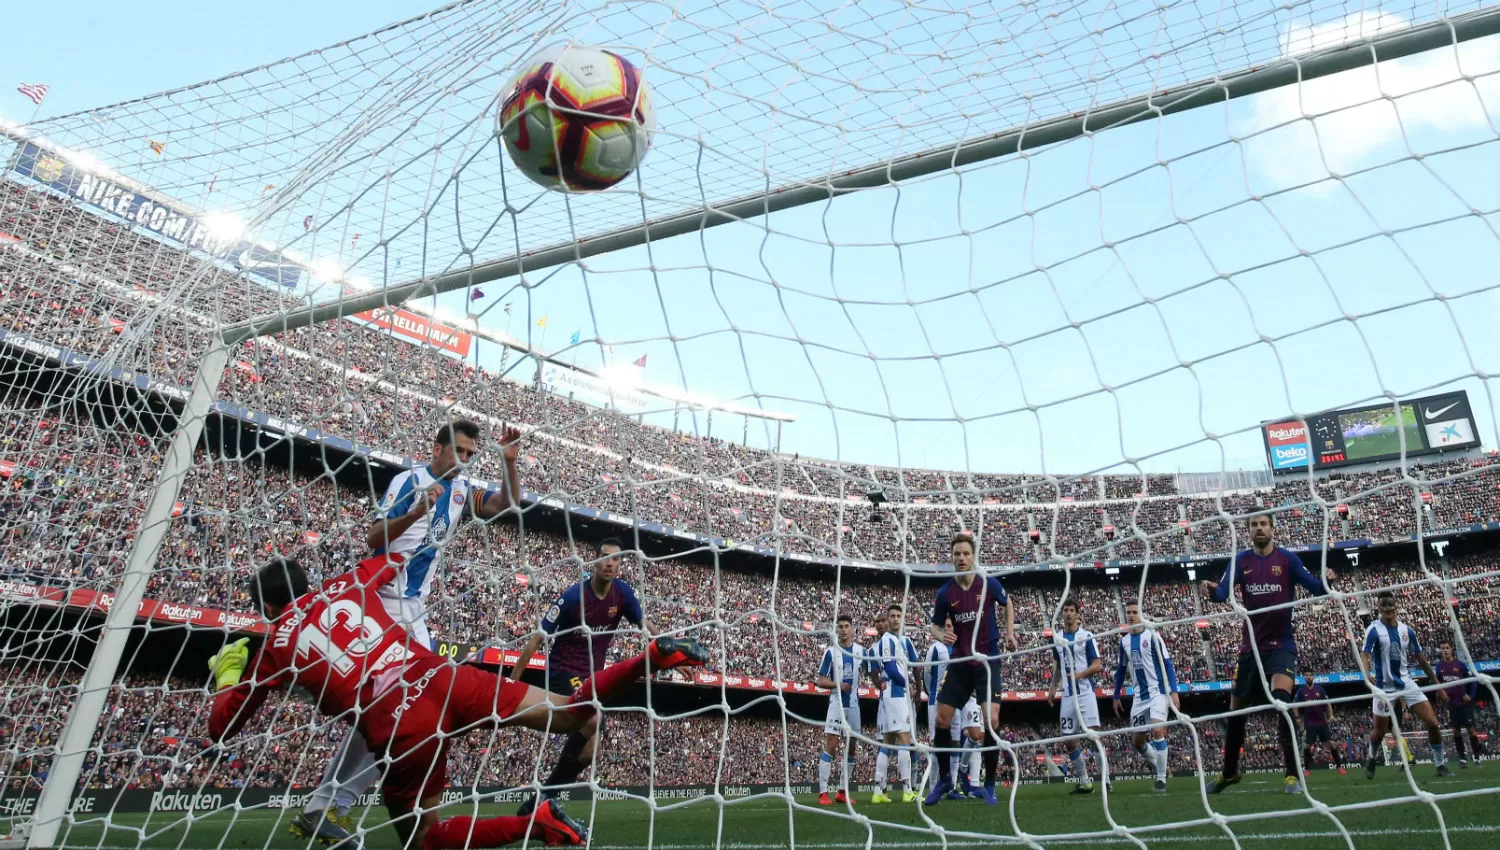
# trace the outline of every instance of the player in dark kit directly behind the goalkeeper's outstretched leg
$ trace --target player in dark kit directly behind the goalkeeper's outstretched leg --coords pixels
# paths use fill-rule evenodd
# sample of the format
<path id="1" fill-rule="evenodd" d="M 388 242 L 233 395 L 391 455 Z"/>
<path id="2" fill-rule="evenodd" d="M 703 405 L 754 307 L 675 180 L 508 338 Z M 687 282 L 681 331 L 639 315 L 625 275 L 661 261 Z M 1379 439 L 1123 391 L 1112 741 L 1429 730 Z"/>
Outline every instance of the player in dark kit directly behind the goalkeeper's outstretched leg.
<path id="1" fill-rule="evenodd" d="M 548 690 L 560 696 L 572 696 L 584 685 L 584 679 L 604 669 L 604 654 L 615 639 L 620 621 L 630 622 L 648 636 L 656 630 L 645 622 L 636 591 L 620 577 L 624 565 L 620 538 L 606 537 L 598 541 L 598 562 L 594 573 L 552 603 L 542 618 L 542 631 L 531 634 L 510 669 L 510 678 L 520 681 L 531 657 L 542 648 L 546 636 L 552 637 L 552 652 L 548 654 Z M 542 783 L 542 796 L 556 799 L 560 786 L 578 781 L 578 777 L 594 763 L 598 753 L 598 724 L 603 718 L 594 715 L 582 729 L 572 732 L 562 742 L 558 763 Z M 528 798 L 516 814 L 531 814 L 536 798 Z"/>

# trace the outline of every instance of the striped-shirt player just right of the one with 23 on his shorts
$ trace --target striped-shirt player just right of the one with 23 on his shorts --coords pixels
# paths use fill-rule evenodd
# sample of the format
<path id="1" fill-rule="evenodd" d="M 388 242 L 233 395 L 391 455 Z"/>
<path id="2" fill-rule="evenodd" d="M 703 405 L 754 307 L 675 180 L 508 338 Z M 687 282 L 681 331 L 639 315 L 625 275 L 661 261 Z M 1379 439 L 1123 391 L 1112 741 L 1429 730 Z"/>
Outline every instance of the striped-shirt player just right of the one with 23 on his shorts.
<path id="1" fill-rule="evenodd" d="M 1150 748 L 1146 747 L 1146 729 L 1138 729 L 1131 735 L 1131 744 L 1142 760 L 1156 772 L 1154 790 L 1167 790 L 1167 702 L 1172 708 L 1182 711 L 1178 697 L 1178 672 L 1172 666 L 1172 654 L 1167 652 L 1166 642 L 1155 628 L 1146 628 L 1140 616 L 1140 603 L 1125 604 L 1125 621 L 1131 625 L 1128 634 L 1120 636 L 1120 660 L 1114 667 L 1114 717 L 1119 717 L 1124 706 L 1120 697 L 1125 694 L 1125 684 L 1136 685 L 1134 702 L 1131 703 L 1130 724 L 1150 726 Z"/>

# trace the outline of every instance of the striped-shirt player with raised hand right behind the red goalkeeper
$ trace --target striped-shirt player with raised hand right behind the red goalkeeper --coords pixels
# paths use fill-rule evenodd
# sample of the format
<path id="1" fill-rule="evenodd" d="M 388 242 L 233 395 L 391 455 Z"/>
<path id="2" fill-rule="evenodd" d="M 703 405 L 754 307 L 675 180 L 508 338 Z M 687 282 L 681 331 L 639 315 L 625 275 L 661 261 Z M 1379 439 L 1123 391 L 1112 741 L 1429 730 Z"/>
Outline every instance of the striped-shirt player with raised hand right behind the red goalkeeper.
<path id="1" fill-rule="evenodd" d="M 468 480 L 459 478 L 459 474 L 472 463 L 478 438 L 480 427 L 470 420 L 440 426 L 432 435 L 428 465 L 398 472 L 390 480 L 380 504 L 380 519 L 364 537 L 372 553 L 402 558 L 394 580 L 381 585 L 380 603 L 423 649 L 432 649 L 428 595 L 444 547 L 465 519 L 496 517 L 520 498 L 520 472 L 516 469 L 520 430 L 506 427 L 501 432 L 506 481 L 483 502 L 474 501 Z M 354 823 L 345 816 L 378 778 L 375 756 L 364 741 L 358 735 L 345 735 L 308 808 L 291 822 L 291 834 L 324 844 L 346 840 Z"/>

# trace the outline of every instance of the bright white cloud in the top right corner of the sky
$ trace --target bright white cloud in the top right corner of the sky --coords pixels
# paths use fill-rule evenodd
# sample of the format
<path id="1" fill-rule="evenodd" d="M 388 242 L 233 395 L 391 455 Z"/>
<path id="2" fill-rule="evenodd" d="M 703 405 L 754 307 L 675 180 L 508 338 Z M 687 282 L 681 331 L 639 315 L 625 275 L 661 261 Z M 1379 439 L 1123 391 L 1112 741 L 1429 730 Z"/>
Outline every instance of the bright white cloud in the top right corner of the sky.
<path id="1" fill-rule="evenodd" d="M 1300 55 L 1407 25 L 1380 12 L 1296 24 L 1282 33 L 1281 51 Z M 1257 94 L 1233 130 L 1245 139 L 1250 165 L 1263 183 L 1257 190 L 1317 180 L 1329 171 L 1346 174 L 1402 159 L 1408 142 L 1418 150 L 1430 147 L 1414 141 L 1425 133 L 1492 135 L 1484 100 L 1464 76 L 1494 87 L 1497 70 L 1500 37 L 1476 39 Z"/>

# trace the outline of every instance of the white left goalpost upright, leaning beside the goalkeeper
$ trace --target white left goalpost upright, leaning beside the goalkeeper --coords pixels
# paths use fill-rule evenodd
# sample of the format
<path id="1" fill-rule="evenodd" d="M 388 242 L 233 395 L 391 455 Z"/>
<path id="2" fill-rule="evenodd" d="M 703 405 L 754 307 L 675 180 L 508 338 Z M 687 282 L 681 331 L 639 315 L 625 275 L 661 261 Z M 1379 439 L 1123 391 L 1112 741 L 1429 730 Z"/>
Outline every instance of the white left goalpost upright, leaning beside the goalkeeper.
<path id="1" fill-rule="evenodd" d="M 172 505 L 177 502 L 183 480 L 192 468 L 194 450 L 202 436 L 228 361 L 230 345 L 222 337 L 216 337 L 198 361 L 198 373 L 194 376 L 192 390 L 177 418 L 177 429 L 166 448 L 160 477 L 156 480 L 152 501 L 146 505 L 141 531 L 130 547 L 114 603 L 110 606 L 110 613 L 105 615 L 99 643 L 78 687 L 78 700 L 74 702 L 74 709 L 63 726 L 57 751 L 46 771 L 46 783 L 36 801 L 27 837 L 28 849 L 57 847 L 57 834 L 69 814 L 74 790 L 82 775 L 84 759 L 88 756 L 94 730 L 99 727 L 105 699 L 110 696 L 111 684 L 114 684 L 120 658 L 124 655 L 126 640 L 135 627 L 136 609 L 146 597 L 152 567 L 156 564 L 162 538 L 166 537 L 166 529 L 171 525 Z"/>

